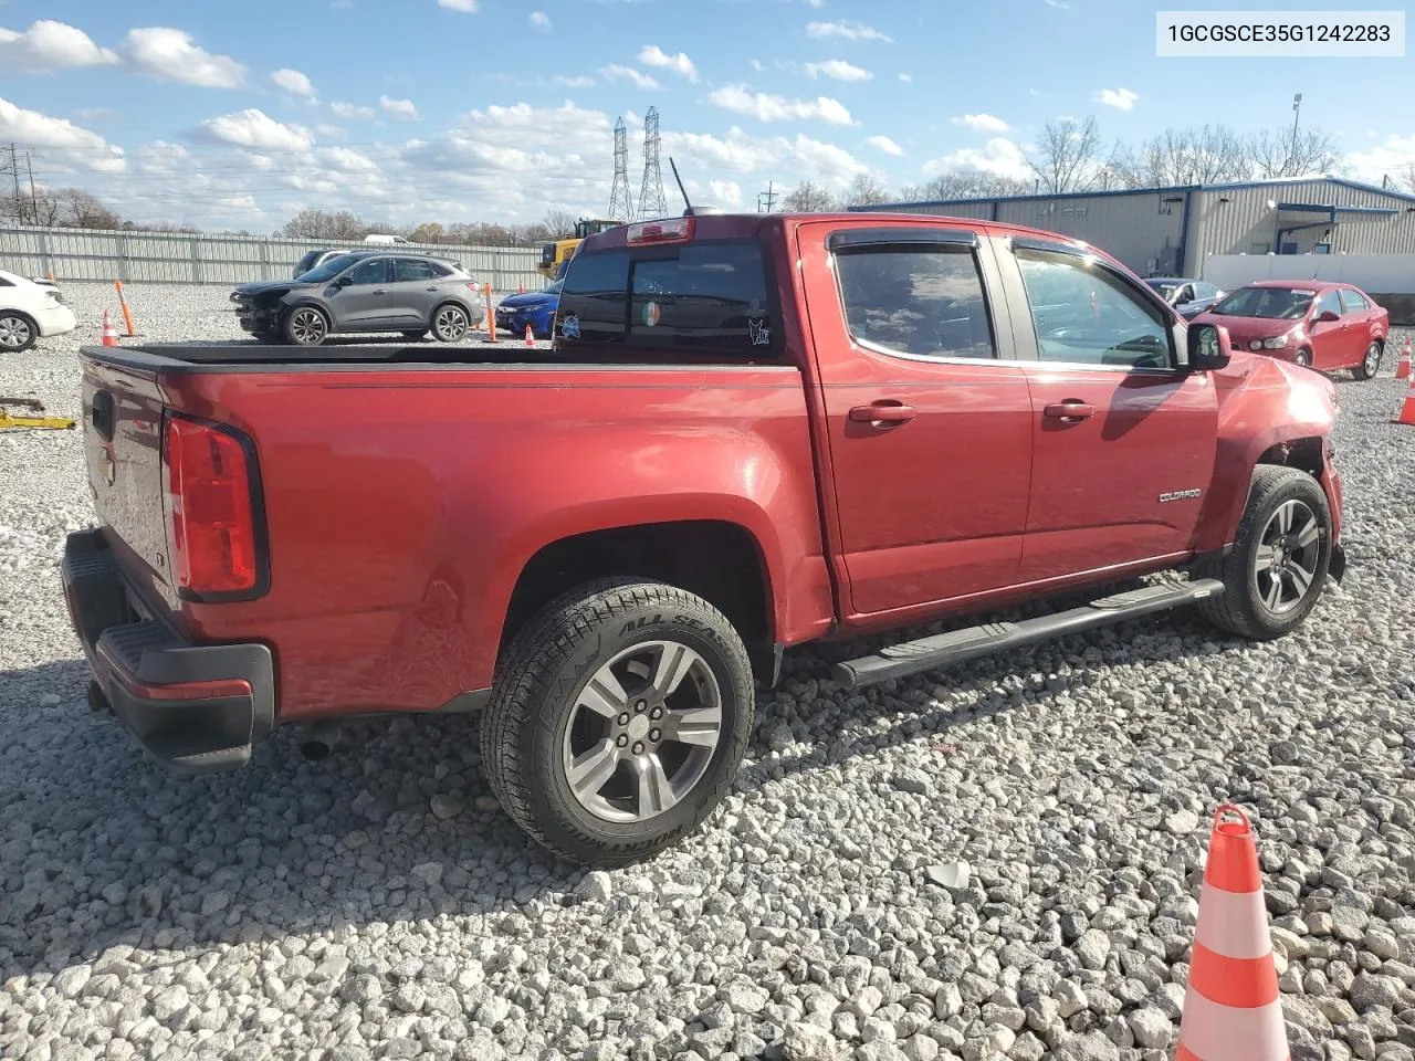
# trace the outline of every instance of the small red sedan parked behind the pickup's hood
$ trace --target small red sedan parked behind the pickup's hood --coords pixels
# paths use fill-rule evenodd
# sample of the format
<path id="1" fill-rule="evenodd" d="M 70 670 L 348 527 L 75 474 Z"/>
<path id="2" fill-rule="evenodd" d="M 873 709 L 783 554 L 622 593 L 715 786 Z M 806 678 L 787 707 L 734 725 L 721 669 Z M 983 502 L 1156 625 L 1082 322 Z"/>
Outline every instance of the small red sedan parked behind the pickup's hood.
<path id="1" fill-rule="evenodd" d="M 1348 368 L 1370 379 L 1381 368 L 1391 315 L 1351 284 L 1258 280 L 1240 287 L 1194 324 L 1223 324 L 1234 349 L 1251 349 L 1322 372 Z"/>

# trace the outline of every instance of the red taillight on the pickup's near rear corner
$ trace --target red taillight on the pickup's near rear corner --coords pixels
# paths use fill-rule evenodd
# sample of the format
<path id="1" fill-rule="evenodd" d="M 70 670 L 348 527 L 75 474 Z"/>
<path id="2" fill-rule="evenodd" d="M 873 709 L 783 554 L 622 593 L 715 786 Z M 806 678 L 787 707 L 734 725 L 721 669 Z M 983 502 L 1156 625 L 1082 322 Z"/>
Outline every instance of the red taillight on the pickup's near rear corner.
<path id="1" fill-rule="evenodd" d="M 184 596 L 248 594 L 260 584 L 252 468 L 228 430 L 170 419 L 164 444 L 171 569 Z"/>

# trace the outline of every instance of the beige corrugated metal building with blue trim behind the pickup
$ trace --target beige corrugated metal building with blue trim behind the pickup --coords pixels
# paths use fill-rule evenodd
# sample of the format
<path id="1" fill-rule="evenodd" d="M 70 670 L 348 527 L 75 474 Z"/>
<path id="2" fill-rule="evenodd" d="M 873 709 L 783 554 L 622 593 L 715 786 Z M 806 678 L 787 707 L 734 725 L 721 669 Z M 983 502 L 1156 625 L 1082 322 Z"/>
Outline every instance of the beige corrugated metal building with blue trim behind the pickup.
<path id="1" fill-rule="evenodd" d="M 1140 276 L 1201 276 L 1208 255 L 1415 253 L 1415 195 L 1341 177 L 855 209 L 979 218 L 1063 232 L 1119 257 Z"/>

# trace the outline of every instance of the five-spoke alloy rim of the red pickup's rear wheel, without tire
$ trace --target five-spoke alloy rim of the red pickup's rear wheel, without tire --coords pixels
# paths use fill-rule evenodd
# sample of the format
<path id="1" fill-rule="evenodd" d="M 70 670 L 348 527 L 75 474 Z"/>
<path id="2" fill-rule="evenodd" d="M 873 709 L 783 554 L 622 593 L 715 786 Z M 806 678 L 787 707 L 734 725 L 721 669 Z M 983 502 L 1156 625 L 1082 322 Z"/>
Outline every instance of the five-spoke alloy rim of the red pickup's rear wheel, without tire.
<path id="1" fill-rule="evenodd" d="M 607 822 L 645 822 L 702 781 L 722 738 L 722 688 L 679 641 L 621 651 L 580 688 L 562 737 L 576 802 Z"/>

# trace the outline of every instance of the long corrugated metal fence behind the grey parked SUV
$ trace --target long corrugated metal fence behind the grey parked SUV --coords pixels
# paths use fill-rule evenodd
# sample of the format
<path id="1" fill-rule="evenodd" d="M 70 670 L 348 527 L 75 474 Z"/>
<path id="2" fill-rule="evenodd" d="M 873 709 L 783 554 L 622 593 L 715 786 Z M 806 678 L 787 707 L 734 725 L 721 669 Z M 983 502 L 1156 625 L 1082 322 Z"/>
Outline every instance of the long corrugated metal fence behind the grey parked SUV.
<path id="1" fill-rule="evenodd" d="M 64 228 L 0 228 L 0 267 L 21 276 L 123 283 L 239 284 L 283 280 L 316 248 L 366 250 L 369 243 L 259 236 L 205 236 Z M 460 262 L 478 283 L 498 291 L 538 290 L 539 248 L 492 248 L 451 243 L 398 245 Z"/>

